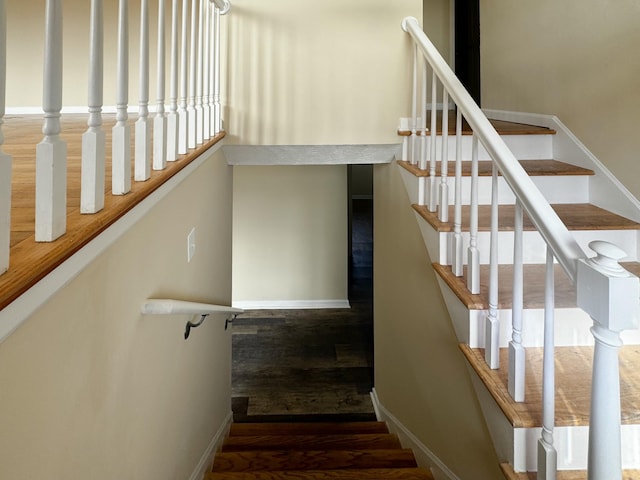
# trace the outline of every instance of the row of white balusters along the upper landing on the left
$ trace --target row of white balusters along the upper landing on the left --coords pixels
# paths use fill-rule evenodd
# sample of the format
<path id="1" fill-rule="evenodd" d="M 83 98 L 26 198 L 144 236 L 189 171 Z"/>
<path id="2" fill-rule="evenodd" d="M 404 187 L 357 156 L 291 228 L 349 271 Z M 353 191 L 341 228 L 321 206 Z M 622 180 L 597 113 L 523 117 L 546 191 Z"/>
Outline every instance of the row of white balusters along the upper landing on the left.
<path id="1" fill-rule="evenodd" d="M 163 170 L 222 131 L 220 105 L 220 15 L 228 0 L 157 1 L 157 82 L 153 114 L 149 108 L 149 0 L 140 8 L 139 99 L 132 159 L 129 124 L 129 0 L 119 0 L 117 16 L 116 124 L 112 130 L 113 195 L 131 191 L 134 181 L 149 179 L 151 170 Z M 180 5 L 181 2 L 181 5 Z M 89 25 L 88 125 L 82 137 L 80 211 L 94 214 L 105 205 L 105 157 L 108 146 L 103 128 L 105 70 L 104 1 L 91 0 Z M 169 5 L 170 4 L 170 5 Z M 11 231 L 11 157 L 2 151 L 7 84 L 7 1 L 0 0 L 0 274 L 9 269 Z M 180 8 L 180 6 L 182 8 Z M 63 1 L 45 5 L 43 78 L 43 138 L 36 147 L 35 239 L 52 242 L 66 232 L 67 145 L 61 139 L 63 69 Z M 167 19 L 169 21 L 167 22 Z M 10 20 L 10 19 L 9 19 Z M 165 25 L 170 25 L 167 34 Z M 169 44 L 167 50 L 166 45 Z M 167 68 L 167 63 L 169 68 Z M 168 96 L 166 85 L 168 87 Z"/>

